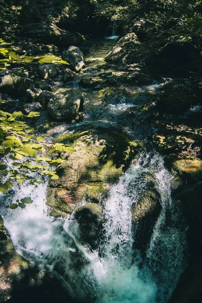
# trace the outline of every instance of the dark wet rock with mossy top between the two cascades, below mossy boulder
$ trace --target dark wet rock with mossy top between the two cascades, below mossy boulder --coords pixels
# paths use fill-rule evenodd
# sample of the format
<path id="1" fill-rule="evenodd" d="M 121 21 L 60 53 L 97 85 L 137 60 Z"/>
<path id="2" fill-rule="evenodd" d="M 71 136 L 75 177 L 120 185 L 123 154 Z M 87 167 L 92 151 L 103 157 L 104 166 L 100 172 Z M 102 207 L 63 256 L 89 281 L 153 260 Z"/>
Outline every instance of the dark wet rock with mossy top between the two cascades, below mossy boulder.
<path id="1" fill-rule="evenodd" d="M 103 207 L 99 204 L 91 203 L 75 210 L 75 219 L 78 220 L 84 241 L 92 249 L 99 245 L 99 235 L 104 223 Z"/>

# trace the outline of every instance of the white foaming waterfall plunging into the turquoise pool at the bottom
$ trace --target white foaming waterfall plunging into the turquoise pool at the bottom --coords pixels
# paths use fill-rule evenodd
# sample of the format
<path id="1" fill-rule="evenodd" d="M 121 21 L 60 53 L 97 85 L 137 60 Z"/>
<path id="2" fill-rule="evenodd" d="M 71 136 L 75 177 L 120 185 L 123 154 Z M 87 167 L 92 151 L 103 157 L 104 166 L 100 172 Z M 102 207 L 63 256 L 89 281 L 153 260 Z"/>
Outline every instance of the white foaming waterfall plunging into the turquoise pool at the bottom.
<path id="1" fill-rule="evenodd" d="M 162 211 L 143 258 L 133 247 L 131 206 L 145 190 L 141 181 L 145 173 L 155 177 Z M 166 303 L 185 267 L 186 245 L 181 215 L 171 199 L 171 180 L 155 151 L 143 154 L 132 164 L 105 201 L 105 234 L 98 251 L 83 244 L 73 217 L 48 216 L 47 183 L 20 186 L 18 198 L 31 196 L 34 200 L 25 209 L 10 210 L 10 197 L 1 195 L 1 215 L 17 251 L 58 273 L 78 302 Z"/>

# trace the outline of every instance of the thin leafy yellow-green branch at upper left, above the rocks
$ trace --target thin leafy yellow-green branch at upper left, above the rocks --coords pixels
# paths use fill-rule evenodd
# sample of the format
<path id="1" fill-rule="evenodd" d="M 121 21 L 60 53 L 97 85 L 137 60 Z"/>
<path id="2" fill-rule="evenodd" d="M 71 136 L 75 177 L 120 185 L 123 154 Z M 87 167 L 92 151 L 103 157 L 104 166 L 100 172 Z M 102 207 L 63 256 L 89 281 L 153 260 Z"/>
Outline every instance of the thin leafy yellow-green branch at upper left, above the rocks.
<path id="1" fill-rule="evenodd" d="M 60 57 L 54 55 L 44 55 L 44 56 L 20 56 L 15 53 L 11 47 L 11 43 L 5 42 L 3 39 L 0 39 L 0 56 L 3 59 L 0 59 L 0 69 L 7 69 L 12 63 L 21 63 L 21 64 L 37 64 L 37 63 L 61 63 L 68 64 L 66 61 L 62 60 Z"/>

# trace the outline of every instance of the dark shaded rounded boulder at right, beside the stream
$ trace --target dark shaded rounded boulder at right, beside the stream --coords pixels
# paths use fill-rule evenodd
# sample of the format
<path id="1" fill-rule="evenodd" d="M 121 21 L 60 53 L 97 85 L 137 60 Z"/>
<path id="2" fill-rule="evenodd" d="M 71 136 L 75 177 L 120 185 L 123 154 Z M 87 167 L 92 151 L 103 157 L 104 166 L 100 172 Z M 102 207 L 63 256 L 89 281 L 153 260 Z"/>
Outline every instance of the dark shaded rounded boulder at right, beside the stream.
<path id="1" fill-rule="evenodd" d="M 169 114 L 181 114 L 192 105 L 193 93 L 186 83 L 168 83 L 163 86 L 157 108 Z"/>

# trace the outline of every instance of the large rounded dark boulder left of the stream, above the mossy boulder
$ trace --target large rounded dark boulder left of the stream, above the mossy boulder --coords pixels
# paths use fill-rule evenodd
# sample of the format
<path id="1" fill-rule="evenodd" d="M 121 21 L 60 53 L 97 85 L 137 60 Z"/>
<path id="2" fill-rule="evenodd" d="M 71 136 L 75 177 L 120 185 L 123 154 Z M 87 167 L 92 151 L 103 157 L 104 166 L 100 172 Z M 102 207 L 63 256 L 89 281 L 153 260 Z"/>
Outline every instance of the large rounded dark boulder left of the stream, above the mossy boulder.
<path id="1" fill-rule="evenodd" d="M 57 120 L 71 121 L 82 110 L 83 97 L 79 90 L 73 89 L 67 95 L 57 93 L 47 105 L 48 114 Z"/>

